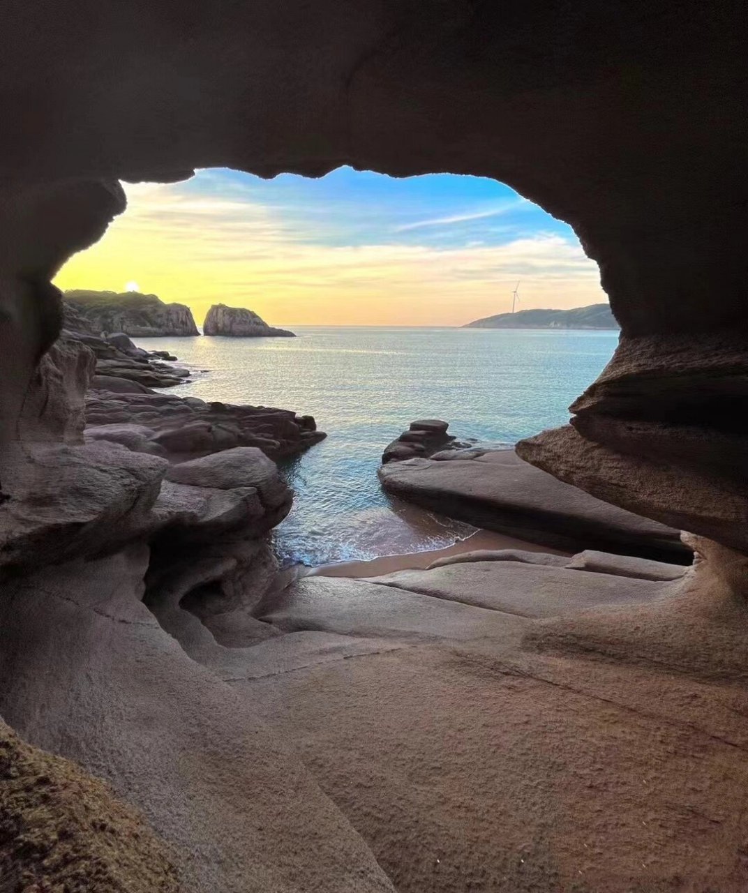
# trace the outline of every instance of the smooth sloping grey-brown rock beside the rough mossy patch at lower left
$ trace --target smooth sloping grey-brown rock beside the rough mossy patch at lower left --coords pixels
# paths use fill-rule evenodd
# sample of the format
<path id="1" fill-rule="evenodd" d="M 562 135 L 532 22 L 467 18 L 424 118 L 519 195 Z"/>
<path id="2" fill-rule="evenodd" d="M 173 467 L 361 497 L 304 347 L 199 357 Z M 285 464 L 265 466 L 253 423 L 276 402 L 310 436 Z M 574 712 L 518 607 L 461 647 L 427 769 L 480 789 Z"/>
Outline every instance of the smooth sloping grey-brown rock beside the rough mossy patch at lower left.
<path id="1" fill-rule="evenodd" d="M 185 893 L 391 893 L 287 743 L 142 604 L 147 558 L 131 550 L 5 589 L 6 721 L 142 809 Z"/>

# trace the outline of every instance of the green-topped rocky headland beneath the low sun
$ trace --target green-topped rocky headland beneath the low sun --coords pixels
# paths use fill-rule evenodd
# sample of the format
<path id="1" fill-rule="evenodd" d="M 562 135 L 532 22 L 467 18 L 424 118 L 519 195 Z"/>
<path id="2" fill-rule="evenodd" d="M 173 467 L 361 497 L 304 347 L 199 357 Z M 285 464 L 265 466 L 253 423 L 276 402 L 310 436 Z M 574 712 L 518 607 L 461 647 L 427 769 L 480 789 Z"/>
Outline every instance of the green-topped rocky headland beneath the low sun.
<path id="1" fill-rule="evenodd" d="M 97 333 L 124 332 L 133 338 L 200 334 L 189 307 L 164 304 L 155 295 L 77 289 L 65 292 L 64 299 Z"/>

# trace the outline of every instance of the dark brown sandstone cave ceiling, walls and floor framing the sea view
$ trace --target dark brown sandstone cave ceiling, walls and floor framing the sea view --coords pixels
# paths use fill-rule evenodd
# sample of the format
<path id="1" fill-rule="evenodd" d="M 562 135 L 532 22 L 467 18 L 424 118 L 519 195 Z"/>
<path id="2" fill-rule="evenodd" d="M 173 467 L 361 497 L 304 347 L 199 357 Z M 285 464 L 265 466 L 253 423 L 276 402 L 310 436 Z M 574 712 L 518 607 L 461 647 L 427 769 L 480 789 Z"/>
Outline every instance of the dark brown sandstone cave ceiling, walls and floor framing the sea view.
<path id="1" fill-rule="evenodd" d="M 4 13 L 4 719 L 142 808 L 188 893 L 744 890 L 743 4 Z M 493 177 L 573 226 L 619 350 L 518 452 L 700 535 L 686 577 L 478 561 L 250 612 L 252 488 L 175 493 L 160 457 L 80 442 L 93 358 L 47 353 L 50 281 L 124 210 L 118 179 L 341 163 Z"/>

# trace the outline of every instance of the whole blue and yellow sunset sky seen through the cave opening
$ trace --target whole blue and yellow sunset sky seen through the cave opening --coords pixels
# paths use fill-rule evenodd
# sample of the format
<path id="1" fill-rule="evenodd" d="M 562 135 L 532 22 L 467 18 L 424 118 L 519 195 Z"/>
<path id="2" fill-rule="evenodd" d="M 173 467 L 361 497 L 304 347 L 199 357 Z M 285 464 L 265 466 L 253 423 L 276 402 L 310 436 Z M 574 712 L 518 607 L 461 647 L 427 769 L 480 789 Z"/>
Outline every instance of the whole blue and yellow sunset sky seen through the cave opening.
<path id="1" fill-rule="evenodd" d="M 248 307 L 270 325 L 462 325 L 606 300 L 569 226 L 492 179 L 339 168 L 123 184 L 128 210 L 55 284 Z"/>

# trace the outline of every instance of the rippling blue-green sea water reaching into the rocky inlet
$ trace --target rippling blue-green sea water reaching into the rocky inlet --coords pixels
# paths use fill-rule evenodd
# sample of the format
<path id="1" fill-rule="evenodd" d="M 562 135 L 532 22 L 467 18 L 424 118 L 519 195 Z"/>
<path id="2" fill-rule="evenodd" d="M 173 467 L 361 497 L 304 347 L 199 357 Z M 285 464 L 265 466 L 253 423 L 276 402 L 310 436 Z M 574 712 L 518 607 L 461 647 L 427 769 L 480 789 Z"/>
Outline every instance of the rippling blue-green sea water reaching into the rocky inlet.
<path id="1" fill-rule="evenodd" d="M 142 338 L 195 370 L 181 396 L 311 413 L 328 438 L 282 466 L 294 508 L 278 555 L 310 565 L 451 545 L 468 525 L 386 496 L 386 445 L 419 418 L 510 446 L 568 421 L 611 358 L 616 331 L 294 328 L 297 338 Z M 203 371 L 208 370 L 208 371 Z"/>

